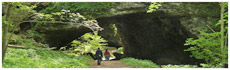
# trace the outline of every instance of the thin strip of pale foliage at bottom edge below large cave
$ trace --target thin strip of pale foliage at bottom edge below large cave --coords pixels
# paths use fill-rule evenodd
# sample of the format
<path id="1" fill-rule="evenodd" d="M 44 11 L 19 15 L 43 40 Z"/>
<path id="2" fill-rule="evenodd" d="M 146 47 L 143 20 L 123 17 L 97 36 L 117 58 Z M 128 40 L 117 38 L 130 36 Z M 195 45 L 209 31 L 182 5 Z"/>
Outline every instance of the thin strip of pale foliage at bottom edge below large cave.
<path id="1" fill-rule="evenodd" d="M 196 65 L 161 65 L 162 68 L 198 68 Z"/>

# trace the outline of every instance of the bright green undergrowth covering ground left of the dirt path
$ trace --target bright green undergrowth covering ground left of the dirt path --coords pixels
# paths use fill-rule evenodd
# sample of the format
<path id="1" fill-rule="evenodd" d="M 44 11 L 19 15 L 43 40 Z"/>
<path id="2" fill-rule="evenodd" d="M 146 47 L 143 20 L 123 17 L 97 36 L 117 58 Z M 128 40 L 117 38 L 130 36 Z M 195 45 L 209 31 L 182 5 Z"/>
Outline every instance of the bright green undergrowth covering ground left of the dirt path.
<path id="1" fill-rule="evenodd" d="M 89 56 L 69 56 L 49 49 L 8 48 L 3 68 L 87 68 Z"/>

